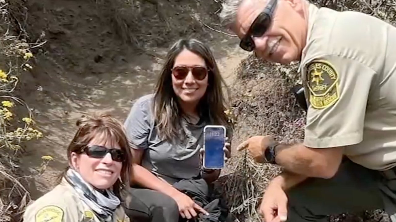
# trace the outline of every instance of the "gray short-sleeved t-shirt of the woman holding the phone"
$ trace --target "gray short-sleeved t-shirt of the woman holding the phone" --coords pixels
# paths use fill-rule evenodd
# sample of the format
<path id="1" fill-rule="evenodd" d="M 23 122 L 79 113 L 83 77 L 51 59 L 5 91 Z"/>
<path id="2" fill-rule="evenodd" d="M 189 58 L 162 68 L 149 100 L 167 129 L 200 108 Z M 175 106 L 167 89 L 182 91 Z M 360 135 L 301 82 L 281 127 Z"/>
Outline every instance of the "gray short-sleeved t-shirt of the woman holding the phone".
<path id="1" fill-rule="evenodd" d="M 174 143 L 160 139 L 154 127 L 152 99 L 154 94 L 139 98 L 124 123 L 133 149 L 144 150 L 142 166 L 170 184 L 200 175 L 199 150 L 203 145 L 205 121 L 189 124 L 182 120 L 185 139 Z"/>

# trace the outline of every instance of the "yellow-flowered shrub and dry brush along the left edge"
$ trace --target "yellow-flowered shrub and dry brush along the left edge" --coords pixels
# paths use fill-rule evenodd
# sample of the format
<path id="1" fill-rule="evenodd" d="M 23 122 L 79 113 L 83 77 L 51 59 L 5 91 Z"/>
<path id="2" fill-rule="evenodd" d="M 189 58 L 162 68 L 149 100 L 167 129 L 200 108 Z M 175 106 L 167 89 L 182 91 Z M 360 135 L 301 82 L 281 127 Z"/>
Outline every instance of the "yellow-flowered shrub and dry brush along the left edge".
<path id="1" fill-rule="evenodd" d="M 43 133 L 36 128 L 32 113 L 27 104 L 15 96 L 19 78 L 24 78 L 24 72 L 34 69 L 34 52 L 46 43 L 37 39 L 29 42 L 25 24 L 18 20 L 25 13 L 19 10 L 21 1 L 0 0 L 0 221 L 20 221 L 30 194 L 23 181 L 26 177 L 40 176 L 46 166 L 53 160 L 51 156 L 42 156 L 41 166 L 34 167 L 37 173 L 24 175 L 20 171 L 19 160 L 26 141 L 37 140 Z M 10 7 L 10 8 L 9 8 Z M 15 17 L 11 17 L 9 9 Z M 15 10 L 17 9 L 17 10 Z M 23 15 L 23 16 L 22 16 Z M 26 15 L 27 16 L 27 15 Z M 26 17 L 27 18 L 27 17 Z M 17 24 L 16 24 L 17 23 Z M 17 25 L 17 26 L 15 26 Z M 20 30 L 20 32 L 18 32 Z M 41 41 L 41 42 L 39 42 Z M 23 88 L 23 86 L 22 86 Z M 23 90 L 23 89 L 22 89 Z M 23 181 L 21 180 L 23 179 Z"/>

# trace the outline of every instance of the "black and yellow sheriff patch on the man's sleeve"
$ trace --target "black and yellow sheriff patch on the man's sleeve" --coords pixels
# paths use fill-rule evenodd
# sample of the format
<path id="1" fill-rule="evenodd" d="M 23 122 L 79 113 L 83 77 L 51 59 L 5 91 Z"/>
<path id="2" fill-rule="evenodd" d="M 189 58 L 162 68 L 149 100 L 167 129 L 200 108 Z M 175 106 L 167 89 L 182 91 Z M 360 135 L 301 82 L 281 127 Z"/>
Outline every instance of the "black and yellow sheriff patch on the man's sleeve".
<path id="1" fill-rule="evenodd" d="M 339 99 L 339 76 L 327 61 L 314 60 L 307 65 L 309 102 L 315 109 L 324 109 Z"/>

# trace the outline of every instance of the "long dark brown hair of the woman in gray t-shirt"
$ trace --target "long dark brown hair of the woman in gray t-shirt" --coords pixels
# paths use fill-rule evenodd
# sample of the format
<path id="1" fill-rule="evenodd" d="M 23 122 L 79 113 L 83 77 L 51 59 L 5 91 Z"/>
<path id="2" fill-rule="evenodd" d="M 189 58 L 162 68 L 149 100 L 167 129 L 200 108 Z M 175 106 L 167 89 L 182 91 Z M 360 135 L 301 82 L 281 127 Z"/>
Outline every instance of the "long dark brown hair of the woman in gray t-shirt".
<path id="1" fill-rule="evenodd" d="M 181 51 L 187 49 L 192 53 L 201 56 L 208 68 L 208 88 L 204 96 L 198 103 L 198 113 L 201 118 L 206 119 L 211 124 L 221 124 L 229 127 L 226 110 L 225 97 L 223 95 L 222 83 L 229 91 L 224 79 L 220 75 L 216 60 L 209 47 L 201 41 L 195 39 L 181 39 L 175 42 L 169 49 L 166 62 L 162 67 L 160 77 L 156 84 L 154 95 L 154 118 L 158 134 L 162 138 L 173 140 L 176 137 L 183 137 L 181 134 L 182 110 L 178 104 L 177 96 L 173 91 L 171 69 L 175 58 Z"/>

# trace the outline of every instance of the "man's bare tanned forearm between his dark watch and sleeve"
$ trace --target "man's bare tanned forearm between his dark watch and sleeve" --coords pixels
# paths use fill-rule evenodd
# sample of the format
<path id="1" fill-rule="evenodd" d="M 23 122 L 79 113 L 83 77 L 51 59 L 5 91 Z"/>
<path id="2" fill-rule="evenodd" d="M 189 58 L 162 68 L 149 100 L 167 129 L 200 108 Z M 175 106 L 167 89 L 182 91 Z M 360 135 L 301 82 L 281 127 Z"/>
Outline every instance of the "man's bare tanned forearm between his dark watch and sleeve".
<path id="1" fill-rule="evenodd" d="M 276 147 L 275 161 L 286 171 L 306 177 L 332 177 L 341 163 L 340 148 L 310 149 L 303 144 Z"/>

